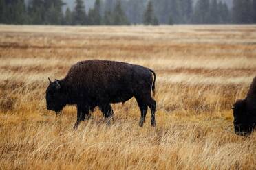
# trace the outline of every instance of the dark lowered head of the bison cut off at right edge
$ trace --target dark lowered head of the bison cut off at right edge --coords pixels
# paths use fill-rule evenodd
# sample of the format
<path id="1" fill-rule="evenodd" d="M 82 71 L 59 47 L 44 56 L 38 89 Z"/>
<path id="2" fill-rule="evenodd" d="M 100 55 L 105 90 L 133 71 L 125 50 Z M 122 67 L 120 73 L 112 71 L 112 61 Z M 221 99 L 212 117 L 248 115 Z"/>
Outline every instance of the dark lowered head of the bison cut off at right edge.
<path id="1" fill-rule="evenodd" d="M 235 102 L 233 106 L 235 134 L 245 136 L 253 131 L 255 122 L 252 115 L 248 111 L 246 99 Z"/>

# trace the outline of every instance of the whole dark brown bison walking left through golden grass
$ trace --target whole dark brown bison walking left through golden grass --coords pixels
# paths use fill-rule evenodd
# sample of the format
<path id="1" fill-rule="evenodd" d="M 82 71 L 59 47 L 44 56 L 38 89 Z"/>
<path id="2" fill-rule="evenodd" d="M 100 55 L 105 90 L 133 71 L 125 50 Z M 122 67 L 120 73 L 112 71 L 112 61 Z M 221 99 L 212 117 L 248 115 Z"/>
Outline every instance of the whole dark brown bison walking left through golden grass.
<path id="1" fill-rule="evenodd" d="M 110 104 L 135 97 L 141 112 L 140 127 L 145 122 L 147 107 L 151 109 L 151 125 L 155 126 L 156 101 L 151 97 L 155 81 L 154 71 L 139 65 L 107 60 L 78 62 L 62 80 L 50 80 L 45 97 L 47 109 L 58 114 L 66 105 L 76 105 L 77 128 L 81 121 L 89 119 L 89 110 L 98 106 L 109 124 L 113 115 Z"/>

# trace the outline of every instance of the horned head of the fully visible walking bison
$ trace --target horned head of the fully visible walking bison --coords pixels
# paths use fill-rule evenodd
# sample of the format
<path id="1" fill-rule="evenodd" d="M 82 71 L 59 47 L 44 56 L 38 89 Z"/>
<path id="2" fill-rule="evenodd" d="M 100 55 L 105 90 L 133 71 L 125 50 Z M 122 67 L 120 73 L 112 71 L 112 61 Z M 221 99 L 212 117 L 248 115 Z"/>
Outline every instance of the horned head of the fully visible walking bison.
<path id="1" fill-rule="evenodd" d="M 53 110 L 58 114 L 67 104 L 67 93 L 61 86 L 60 80 L 52 82 L 49 78 L 49 81 L 45 96 L 47 110 Z"/>

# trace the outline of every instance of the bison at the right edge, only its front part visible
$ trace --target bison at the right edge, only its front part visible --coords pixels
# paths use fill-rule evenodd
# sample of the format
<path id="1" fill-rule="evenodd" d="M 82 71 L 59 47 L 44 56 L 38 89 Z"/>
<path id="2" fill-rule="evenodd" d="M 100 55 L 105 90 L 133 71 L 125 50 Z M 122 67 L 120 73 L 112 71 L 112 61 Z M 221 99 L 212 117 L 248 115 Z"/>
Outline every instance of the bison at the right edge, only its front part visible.
<path id="1" fill-rule="evenodd" d="M 240 99 L 233 106 L 235 134 L 250 134 L 256 127 L 256 77 L 250 84 L 245 99 Z"/>

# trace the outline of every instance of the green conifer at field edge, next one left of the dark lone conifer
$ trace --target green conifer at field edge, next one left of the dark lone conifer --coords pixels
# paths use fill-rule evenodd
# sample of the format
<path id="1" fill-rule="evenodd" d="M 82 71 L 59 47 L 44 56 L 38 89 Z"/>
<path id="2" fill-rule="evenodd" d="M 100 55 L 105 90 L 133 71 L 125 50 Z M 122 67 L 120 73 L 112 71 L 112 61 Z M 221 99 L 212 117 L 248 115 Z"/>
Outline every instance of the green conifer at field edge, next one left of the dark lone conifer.
<path id="1" fill-rule="evenodd" d="M 115 8 L 113 10 L 113 25 L 129 25 L 129 21 L 125 12 L 122 10 L 122 3 L 120 0 L 116 2 Z"/>

